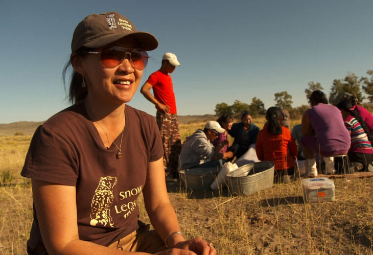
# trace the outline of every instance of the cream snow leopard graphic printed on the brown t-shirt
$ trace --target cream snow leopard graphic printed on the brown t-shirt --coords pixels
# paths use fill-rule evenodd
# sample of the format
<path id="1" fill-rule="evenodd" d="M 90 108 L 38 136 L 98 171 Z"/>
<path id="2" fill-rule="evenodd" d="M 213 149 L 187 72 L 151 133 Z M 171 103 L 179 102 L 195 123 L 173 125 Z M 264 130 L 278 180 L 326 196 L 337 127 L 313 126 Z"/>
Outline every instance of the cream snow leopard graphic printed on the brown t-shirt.
<path id="1" fill-rule="evenodd" d="M 115 184 L 116 177 L 101 177 L 95 190 L 95 195 L 92 198 L 90 225 L 96 226 L 100 223 L 103 226 L 109 224 L 109 226 L 114 227 L 114 222 L 110 215 L 110 206 L 114 199 L 113 187 Z"/>

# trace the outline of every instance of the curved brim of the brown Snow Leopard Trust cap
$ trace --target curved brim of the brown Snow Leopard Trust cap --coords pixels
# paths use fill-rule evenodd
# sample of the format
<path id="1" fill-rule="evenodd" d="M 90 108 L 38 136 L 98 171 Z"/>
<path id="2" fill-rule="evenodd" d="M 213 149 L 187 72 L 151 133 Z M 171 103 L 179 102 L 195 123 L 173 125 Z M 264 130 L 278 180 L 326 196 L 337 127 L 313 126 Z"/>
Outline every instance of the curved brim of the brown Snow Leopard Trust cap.
<path id="1" fill-rule="evenodd" d="M 131 37 L 138 42 L 138 48 L 145 51 L 152 51 L 158 47 L 158 40 L 154 35 L 147 32 L 134 32 L 130 34 L 110 34 L 106 36 L 101 36 L 97 39 L 92 39 L 89 42 L 83 44 L 87 48 L 100 48 L 120 39 Z"/>

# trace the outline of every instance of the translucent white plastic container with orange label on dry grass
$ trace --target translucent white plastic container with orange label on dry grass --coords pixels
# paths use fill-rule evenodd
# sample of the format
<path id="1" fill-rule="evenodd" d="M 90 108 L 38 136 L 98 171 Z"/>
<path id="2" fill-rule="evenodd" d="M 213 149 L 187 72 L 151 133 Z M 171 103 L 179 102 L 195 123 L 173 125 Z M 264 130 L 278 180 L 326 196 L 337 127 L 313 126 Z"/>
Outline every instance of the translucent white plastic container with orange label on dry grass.
<path id="1" fill-rule="evenodd" d="M 334 201 L 334 181 L 327 177 L 301 179 L 303 194 L 310 203 Z"/>

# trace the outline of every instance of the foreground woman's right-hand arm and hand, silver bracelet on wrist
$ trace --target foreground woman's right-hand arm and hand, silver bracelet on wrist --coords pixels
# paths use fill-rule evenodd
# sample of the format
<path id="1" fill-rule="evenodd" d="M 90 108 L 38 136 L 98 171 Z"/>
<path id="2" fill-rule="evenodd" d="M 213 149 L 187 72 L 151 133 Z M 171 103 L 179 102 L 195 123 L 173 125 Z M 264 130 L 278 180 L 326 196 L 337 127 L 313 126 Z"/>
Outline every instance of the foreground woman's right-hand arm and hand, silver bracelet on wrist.
<path id="1" fill-rule="evenodd" d="M 162 240 L 166 240 L 168 235 L 175 231 L 181 232 L 176 213 L 167 194 L 162 158 L 149 163 L 143 195 L 150 221 Z M 167 245 L 185 251 L 192 250 L 199 255 L 216 254 L 214 247 L 208 246 L 201 238 L 185 241 L 182 235 L 174 234 L 168 238 Z"/>

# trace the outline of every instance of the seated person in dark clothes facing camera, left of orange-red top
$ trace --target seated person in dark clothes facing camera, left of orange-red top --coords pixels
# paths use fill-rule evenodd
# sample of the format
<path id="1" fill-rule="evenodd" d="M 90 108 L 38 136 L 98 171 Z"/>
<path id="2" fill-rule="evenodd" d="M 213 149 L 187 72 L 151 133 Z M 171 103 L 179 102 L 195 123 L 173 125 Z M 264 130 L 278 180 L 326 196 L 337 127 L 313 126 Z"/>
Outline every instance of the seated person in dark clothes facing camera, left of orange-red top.
<path id="1" fill-rule="evenodd" d="M 257 142 L 257 136 L 259 127 L 251 123 L 252 117 L 248 111 L 243 111 L 241 114 L 241 122 L 232 125 L 232 128 L 228 130 L 228 134 L 234 137 L 235 140 L 228 148 L 228 151 L 239 158 L 249 149 L 251 144 Z"/>

